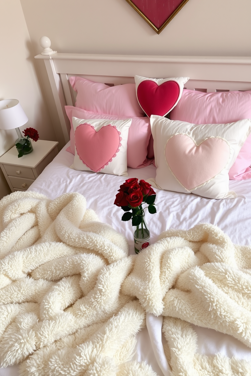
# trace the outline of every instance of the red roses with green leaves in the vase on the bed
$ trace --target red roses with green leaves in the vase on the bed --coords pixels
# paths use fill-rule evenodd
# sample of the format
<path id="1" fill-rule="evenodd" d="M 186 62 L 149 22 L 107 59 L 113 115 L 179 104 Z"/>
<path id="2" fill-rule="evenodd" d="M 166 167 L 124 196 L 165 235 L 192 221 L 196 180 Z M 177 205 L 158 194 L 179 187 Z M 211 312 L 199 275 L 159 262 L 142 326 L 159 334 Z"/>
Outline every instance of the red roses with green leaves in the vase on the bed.
<path id="1" fill-rule="evenodd" d="M 156 193 L 145 180 L 138 182 L 137 177 L 127 179 L 125 183 L 120 185 L 118 191 L 114 204 L 125 211 L 121 218 L 122 221 L 129 221 L 132 218 L 132 226 L 140 225 L 142 216 L 145 214 L 142 203 L 148 204 L 149 213 L 156 213 L 154 204 Z"/>

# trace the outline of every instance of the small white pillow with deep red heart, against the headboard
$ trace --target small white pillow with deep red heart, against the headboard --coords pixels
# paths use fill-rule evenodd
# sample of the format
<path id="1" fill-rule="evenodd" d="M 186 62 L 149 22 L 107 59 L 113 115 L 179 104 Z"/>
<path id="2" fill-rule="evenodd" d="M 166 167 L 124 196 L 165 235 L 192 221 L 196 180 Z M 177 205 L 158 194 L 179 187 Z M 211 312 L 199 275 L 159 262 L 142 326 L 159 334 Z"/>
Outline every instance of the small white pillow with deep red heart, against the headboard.
<path id="1" fill-rule="evenodd" d="M 189 77 L 147 78 L 134 76 L 138 103 L 148 117 L 166 116 L 179 102 Z"/>

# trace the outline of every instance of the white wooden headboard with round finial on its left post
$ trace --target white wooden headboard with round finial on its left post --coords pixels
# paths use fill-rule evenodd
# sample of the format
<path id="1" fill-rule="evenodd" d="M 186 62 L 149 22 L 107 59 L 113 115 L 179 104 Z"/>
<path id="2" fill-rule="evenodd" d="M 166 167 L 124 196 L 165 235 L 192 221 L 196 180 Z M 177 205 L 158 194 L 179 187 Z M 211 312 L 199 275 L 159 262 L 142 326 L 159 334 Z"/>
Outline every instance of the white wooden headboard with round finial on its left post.
<path id="1" fill-rule="evenodd" d="M 35 59 L 44 59 L 61 122 L 62 132 L 57 136 L 65 143 L 70 139 L 70 123 L 64 106 L 74 106 L 76 95 L 68 81 L 70 76 L 114 85 L 134 82 L 135 74 L 155 78 L 189 76 L 187 89 L 251 90 L 251 57 L 73 54 L 54 52 L 48 45 L 50 41 Z"/>

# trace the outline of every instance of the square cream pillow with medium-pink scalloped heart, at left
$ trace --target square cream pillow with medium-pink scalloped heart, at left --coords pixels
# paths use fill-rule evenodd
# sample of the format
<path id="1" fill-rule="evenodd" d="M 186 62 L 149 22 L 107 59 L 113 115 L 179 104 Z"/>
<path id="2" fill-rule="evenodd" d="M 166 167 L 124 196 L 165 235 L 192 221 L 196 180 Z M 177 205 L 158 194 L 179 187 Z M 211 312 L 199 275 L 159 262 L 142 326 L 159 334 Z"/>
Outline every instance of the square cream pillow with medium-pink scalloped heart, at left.
<path id="1" fill-rule="evenodd" d="M 127 138 L 131 121 L 73 117 L 75 157 L 71 168 L 127 176 Z"/>

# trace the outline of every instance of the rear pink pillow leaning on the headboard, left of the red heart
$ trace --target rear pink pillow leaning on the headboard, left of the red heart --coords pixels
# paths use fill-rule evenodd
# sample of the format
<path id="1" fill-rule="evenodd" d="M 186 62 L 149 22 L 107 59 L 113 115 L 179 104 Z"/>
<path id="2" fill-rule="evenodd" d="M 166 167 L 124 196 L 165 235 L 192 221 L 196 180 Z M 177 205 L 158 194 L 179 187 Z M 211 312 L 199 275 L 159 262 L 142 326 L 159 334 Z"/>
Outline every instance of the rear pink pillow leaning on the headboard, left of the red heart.
<path id="1" fill-rule="evenodd" d="M 127 118 L 144 116 L 137 101 L 134 83 L 110 87 L 78 76 L 70 77 L 69 81 L 78 93 L 75 104 L 78 108 Z"/>

